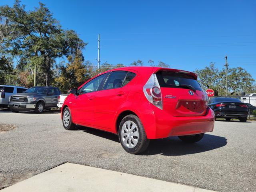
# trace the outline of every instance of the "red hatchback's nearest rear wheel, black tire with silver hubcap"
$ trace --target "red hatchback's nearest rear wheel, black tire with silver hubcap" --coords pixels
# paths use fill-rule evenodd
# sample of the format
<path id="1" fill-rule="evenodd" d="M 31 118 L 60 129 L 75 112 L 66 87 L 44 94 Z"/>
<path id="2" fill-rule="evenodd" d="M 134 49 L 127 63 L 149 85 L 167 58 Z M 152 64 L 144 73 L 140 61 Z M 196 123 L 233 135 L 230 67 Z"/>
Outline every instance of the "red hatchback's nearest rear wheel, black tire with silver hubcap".
<path id="1" fill-rule="evenodd" d="M 150 142 L 140 118 L 136 115 L 127 115 L 122 119 L 119 124 L 118 136 L 120 144 L 130 154 L 144 152 Z"/>

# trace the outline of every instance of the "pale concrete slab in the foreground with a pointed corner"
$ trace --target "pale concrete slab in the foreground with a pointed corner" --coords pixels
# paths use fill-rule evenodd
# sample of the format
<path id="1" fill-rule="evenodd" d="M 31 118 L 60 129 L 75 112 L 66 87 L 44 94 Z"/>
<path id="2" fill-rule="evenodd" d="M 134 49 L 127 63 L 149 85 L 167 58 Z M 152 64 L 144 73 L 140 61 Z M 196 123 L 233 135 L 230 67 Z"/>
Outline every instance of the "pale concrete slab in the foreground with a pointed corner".
<path id="1" fill-rule="evenodd" d="M 4 188 L 1 192 L 212 192 L 210 190 L 145 178 L 79 164 L 56 168 Z"/>

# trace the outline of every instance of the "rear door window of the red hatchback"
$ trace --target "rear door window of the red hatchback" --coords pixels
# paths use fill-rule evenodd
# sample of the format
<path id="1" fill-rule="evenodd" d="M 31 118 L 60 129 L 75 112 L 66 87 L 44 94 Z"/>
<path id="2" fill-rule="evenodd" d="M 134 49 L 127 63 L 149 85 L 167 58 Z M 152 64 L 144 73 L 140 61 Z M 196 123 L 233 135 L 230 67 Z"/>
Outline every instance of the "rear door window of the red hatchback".
<path id="1" fill-rule="evenodd" d="M 113 89 L 122 87 L 124 78 L 126 77 L 127 71 L 114 71 L 111 72 L 108 80 L 106 81 L 103 89 Z"/>

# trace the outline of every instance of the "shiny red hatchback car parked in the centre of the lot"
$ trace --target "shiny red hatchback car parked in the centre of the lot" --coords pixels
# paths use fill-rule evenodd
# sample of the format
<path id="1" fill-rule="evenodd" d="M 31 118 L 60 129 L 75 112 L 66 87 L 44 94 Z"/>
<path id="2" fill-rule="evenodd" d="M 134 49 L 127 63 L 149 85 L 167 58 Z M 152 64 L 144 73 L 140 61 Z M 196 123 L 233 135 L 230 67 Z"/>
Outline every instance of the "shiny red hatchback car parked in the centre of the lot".
<path id="1" fill-rule="evenodd" d="M 150 139 L 178 136 L 198 142 L 213 131 L 215 118 L 196 79 L 192 72 L 160 67 L 106 71 L 70 90 L 62 106 L 63 126 L 118 134 L 132 154 L 146 150 Z"/>

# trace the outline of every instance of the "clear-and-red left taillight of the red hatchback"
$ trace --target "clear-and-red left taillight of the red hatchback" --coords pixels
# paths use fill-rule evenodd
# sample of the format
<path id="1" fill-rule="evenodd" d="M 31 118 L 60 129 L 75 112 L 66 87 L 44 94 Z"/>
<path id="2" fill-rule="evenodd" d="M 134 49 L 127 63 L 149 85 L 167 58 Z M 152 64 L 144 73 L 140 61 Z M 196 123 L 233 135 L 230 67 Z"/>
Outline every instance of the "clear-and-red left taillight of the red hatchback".
<path id="1" fill-rule="evenodd" d="M 143 87 L 143 92 L 150 103 L 163 109 L 162 94 L 156 74 L 152 74 Z"/>

